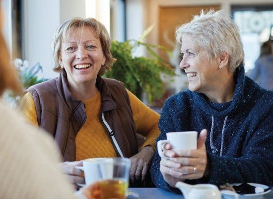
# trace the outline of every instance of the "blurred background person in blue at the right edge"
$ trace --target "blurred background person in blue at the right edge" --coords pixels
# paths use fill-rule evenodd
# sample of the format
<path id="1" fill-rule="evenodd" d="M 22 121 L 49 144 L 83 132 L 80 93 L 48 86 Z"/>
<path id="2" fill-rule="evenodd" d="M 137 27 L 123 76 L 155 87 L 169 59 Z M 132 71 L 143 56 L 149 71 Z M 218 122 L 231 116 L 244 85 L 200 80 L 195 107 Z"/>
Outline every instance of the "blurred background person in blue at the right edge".
<path id="1" fill-rule="evenodd" d="M 250 71 L 249 77 L 264 89 L 273 91 L 272 41 L 262 44 L 260 56 L 255 62 L 255 68 Z"/>

